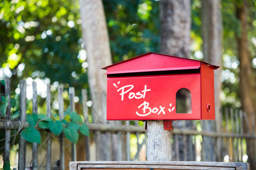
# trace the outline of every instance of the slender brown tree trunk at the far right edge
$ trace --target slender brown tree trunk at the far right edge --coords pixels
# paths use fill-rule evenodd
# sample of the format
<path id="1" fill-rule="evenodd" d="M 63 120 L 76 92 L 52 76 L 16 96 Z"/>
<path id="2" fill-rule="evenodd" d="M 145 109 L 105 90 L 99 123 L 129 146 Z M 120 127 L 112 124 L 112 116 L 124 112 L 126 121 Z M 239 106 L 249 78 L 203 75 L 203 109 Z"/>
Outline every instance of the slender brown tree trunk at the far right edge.
<path id="1" fill-rule="evenodd" d="M 253 124 L 256 122 L 255 120 L 255 103 L 253 103 L 252 99 L 252 86 L 251 86 L 251 60 L 249 57 L 248 50 L 248 39 L 247 39 L 247 10 L 246 0 L 243 1 L 243 4 L 236 6 L 237 18 L 240 20 L 240 28 L 241 28 L 241 36 L 237 37 L 238 44 L 238 58 L 240 62 L 240 98 L 242 102 L 242 108 L 246 112 L 246 116 L 248 118 L 248 122 L 244 124 L 248 124 L 248 128 L 245 128 L 246 133 L 255 133 L 255 128 L 253 129 Z M 251 165 L 251 169 L 256 169 L 256 163 L 253 160 L 256 155 L 254 155 L 254 149 L 256 143 L 252 140 L 246 140 L 247 145 L 247 155 L 248 155 L 248 163 Z"/>

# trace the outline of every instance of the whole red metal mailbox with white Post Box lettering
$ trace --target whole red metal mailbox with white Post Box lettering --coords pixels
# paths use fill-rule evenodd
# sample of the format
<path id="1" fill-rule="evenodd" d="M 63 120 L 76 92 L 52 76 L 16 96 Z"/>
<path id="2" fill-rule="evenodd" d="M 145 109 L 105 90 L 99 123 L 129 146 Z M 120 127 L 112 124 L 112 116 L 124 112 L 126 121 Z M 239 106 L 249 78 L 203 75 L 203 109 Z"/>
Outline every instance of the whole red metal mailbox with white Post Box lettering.
<path id="1" fill-rule="evenodd" d="M 219 66 L 155 52 L 103 67 L 107 120 L 215 120 L 214 70 Z M 176 94 L 191 93 L 191 112 L 178 113 Z"/>

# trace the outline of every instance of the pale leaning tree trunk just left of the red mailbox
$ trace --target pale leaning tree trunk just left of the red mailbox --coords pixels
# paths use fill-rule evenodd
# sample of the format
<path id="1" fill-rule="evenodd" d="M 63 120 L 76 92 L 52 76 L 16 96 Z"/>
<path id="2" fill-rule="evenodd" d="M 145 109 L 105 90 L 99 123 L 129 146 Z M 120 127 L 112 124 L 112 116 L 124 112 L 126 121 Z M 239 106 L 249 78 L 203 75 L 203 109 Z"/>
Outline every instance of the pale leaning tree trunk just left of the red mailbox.
<path id="1" fill-rule="evenodd" d="M 107 81 L 102 67 L 111 64 L 108 29 L 101 0 L 79 0 L 82 19 L 82 34 L 87 52 L 88 80 L 92 98 L 92 115 L 94 122 L 106 123 Z M 100 146 L 97 153 L 99 160 L 107 160 L 106 135 L 95 134 Z"/>

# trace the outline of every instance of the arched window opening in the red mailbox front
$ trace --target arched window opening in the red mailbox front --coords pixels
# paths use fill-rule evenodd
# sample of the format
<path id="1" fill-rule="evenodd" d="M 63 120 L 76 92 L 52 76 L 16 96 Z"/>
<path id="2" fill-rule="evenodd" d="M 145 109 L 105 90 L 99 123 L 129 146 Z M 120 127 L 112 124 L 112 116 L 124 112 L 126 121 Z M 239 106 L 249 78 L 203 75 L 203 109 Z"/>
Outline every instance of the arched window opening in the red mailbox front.
<path id="1" fill-rule="evenodd" d="M 181 88 L 176 92 L 176 113 L 191 113 L 191 92 Z"/>

